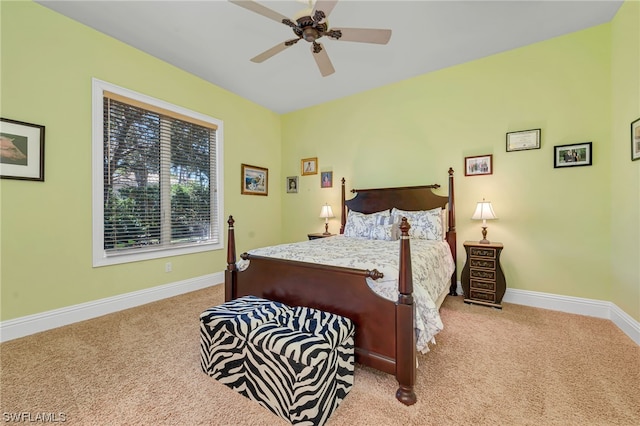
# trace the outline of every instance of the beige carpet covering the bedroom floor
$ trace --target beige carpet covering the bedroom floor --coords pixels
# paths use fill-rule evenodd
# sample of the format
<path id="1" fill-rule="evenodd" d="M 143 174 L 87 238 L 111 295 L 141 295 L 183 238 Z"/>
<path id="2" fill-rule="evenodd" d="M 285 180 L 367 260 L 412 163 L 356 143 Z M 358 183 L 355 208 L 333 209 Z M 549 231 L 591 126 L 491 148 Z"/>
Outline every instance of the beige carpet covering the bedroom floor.
<path id="1" fill-rule="evenodd" d="M 216 286 L 1 344 L 1 421 L 288 424 L 200 370 L 198 316 L 222 301 Z M 415 405 L 357 366 L 328 425 L 640 424 L 640 348 L 612 322 L 461 297 L 442 317 Z"/>

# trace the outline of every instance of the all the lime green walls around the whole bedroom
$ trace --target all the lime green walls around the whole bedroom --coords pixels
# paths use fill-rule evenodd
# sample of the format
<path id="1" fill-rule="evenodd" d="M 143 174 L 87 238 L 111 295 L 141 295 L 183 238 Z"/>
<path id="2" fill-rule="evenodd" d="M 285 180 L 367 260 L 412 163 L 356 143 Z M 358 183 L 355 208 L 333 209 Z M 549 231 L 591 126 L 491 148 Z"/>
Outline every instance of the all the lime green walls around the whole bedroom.
<path id="1" fill-rule="evenodd" d="M 225 216 L 239 251 L 322 231 L 320 207 L 338 212 L 341 177 L 349 189 L 446 184 L 451 166 L 459 271 L 486 198 L 509 287 L 612 301 L 640 320 L 637 2 L 608 24 L 283 116 L 40 5 L 1 8 L 1 115 L 46 126 L 46 181 L 0 181 L 2 320 L 225 268 L 222 252 L 171 258 L 172 273 L 166 259 L 91 267 L 92 77 L 224 121 Z M 542 128 L 541 149 L 505 152 L 506 132 L 531 128 Z M 585 141 L 592 166 L 553 168 L 554 145 Z M 464 157 L 483 154 L 494 174 L 465 177 Z M 300 176 L 306 157 L 334 172 L 333 188 Z M 240 163 L 269 168 L 268 197 L 240 195 Z M 296 175 L 299 193 L 286 194 Z"/>

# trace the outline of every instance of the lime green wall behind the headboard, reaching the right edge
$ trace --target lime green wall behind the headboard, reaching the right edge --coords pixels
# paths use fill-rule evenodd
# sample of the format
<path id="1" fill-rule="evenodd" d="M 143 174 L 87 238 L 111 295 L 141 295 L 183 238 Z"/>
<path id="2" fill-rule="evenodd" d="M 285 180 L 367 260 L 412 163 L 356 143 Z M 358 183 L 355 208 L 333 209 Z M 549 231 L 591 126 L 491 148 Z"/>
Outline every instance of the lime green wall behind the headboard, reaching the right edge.
<path id="1" fill-rule="evenodd" d="M 489 239 L 505 244 L 509 287 L 613 301 L 640 319 L 640 164 L 631 164 L 628 136 L 632 116 L 640 115 L 633 8 L 625 5 L 614 23 L 289 113 L 283 175 L 299 174 L 300 158 L 317 156 L 320 170 L 333 170 L 336 182 L 344 176 L 347 189 L 446 185 L 451 166 L 458 271 L 462 243 L 480 239 L 470 217 L 485 198 L 499 217 L 489 223 Z M 624 64 L 612 67 L 619 50 Z M 618 67 L 626 67 L 624 78 L 612 76 Z M 629 105 L 612 122 L 617 92 Z M 541 149 L 506 152 L 506 132 L 532 128 L 542 129 Z M 587 141 L 592 166 L 554 169 L 555 145 Z M 464 157 L 484 154 L 493 155 L 493 175 L 465 177 Z M 322 203 L 340 205 L 339 185 L 320 189 L 318 176 L 300 179 L 301 193 L 283 195 L 289 241 L 323 228 Z M 337 232 L 339 218 L 330 226 Z"/>

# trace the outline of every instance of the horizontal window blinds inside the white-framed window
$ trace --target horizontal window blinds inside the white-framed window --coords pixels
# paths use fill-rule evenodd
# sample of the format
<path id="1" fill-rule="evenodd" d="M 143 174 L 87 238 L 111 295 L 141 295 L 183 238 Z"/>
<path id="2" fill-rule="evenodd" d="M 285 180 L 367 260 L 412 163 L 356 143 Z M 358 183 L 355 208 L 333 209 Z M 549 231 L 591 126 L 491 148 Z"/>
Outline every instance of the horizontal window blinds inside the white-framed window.
<path id="1" fill-rule="evenodd" d="M 103 102 L 105 253 L 219 242 L 216 126 L 107 91 Z"/>

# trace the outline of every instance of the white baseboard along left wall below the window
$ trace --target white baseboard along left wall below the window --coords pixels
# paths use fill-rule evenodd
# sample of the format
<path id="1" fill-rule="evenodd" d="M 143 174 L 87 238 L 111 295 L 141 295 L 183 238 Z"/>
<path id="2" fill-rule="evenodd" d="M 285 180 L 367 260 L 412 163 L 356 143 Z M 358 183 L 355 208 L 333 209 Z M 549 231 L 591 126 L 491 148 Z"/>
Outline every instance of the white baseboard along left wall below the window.
<path id="1" fill-rule="evenodd" d="M 0 342 L 17 339 L 63 325 L 96 318 L 135 306 L 211 287 L 224 282 L 224 272 L 204 275 L 145 290 L 119 294 L 66 308 L 54 309 L 0 322 Z"/>

